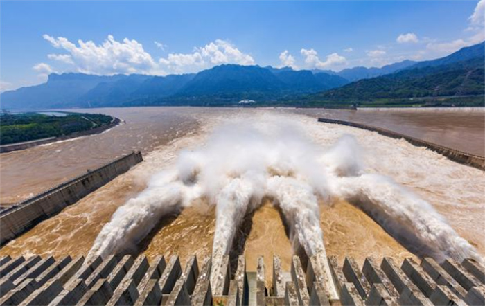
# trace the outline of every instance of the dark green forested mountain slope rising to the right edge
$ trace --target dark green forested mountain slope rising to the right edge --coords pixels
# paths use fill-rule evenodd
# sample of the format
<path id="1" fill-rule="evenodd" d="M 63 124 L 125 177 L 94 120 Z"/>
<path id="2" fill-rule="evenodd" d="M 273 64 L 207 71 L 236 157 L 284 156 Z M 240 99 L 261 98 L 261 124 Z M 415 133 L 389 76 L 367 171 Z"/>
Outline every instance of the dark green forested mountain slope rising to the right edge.
<path id="1" fill-rule="evenodd" d="M 338 89 L 310 95 L 312 103 L 372 104 L 378 100 L 403 98 L 479 96 L 484 100 L 485 49 L 477 44 L 437 60 L 421 62 L 378 78 L 358 80 Z M 480 98 L 481 97 L 481 98 Z M 483 103 L 482 103 L 483 104 Z"/>

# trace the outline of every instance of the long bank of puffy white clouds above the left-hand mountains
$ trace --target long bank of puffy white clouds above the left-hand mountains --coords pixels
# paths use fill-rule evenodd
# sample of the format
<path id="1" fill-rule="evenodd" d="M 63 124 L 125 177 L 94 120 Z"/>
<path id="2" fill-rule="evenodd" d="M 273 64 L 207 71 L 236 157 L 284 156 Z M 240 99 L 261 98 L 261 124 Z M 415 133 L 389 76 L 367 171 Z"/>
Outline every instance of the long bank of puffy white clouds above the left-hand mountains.
<path id="1" fill-rule="evenodd" d="M 134 39 L 117 41 L 108 35 L 103 44 L 78 40 L 77 44 L 65 37 L 43 36 L 54 48 L 67 52 L 49 54 L 50 60 L 71 64 L 82 73 L 113 75 L 116 73 L 142 73 L 166 75 L 168 73 L 195 72 L 219 64 L 252 65 L 251 55 L 243 53 L 236 46 L 222 39 L 205 46 L 194 48 L 192 53 L 170 53 L 158 60 L 145 51 L 143 45 Z M 164 50 L 165 44 L 155 41 Z"/>

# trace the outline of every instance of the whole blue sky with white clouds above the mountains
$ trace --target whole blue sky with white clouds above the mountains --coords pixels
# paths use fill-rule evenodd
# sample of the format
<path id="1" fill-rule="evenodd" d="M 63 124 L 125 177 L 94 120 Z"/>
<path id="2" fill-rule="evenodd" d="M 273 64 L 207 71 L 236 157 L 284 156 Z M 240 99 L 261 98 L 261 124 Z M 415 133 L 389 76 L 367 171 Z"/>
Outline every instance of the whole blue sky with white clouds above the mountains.
<path id="1" fill-rule="evenodd" d="M 484 40 L 480 1 L 0 1 L 1 91 L 49 73 L 331 69 L 430 60 Z"/>

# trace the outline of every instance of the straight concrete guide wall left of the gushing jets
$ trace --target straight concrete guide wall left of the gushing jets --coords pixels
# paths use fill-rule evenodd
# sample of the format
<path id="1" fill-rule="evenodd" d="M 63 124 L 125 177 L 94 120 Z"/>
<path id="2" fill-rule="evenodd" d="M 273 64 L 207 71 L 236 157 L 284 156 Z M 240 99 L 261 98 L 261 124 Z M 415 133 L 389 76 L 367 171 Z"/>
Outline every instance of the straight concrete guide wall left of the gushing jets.
<path id="1" fill-rule="evenodd" d="M 105 185 L 133 165 L 143 161 L 141 152 L 132 152 L 107 165 L 91 170 L 39 195 L 0 211 L 0 245 L 14 239 L 24 231 L 76 203 L 89 192 Z"/>

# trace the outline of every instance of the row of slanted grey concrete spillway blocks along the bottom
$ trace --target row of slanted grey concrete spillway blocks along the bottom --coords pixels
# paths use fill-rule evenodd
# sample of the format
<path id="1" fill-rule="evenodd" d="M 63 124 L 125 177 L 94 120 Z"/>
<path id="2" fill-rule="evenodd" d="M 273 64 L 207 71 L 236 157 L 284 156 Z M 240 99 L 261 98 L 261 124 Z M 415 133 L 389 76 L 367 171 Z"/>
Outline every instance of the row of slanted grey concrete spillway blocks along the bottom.
<path id="1" fill-rule="evenodd" d="M 0 258 L 0 305 L 485 305 L 485 268 L 474 260 L 421 264 L 406 259 L 398 266 L 391 258 L 367 258 L 362 269 L 346 258 L 342 266 L 329 258 L 340 299 L 330 300 L 323 276 L 313 267 L 323 260 L 315 255 L 306 269 L 292 258 L 290 272 L 281 271 L 273 258 L 273 281 L 265 282 L 263 258 L 257 272 L 247 272 L 238 258 L 211 287 L 211 258 L 144 255 L 83 257 Z M 223 262 L 229 262 L 225 258 Z M 307 271 L 307 272 L 305 272 Z"/>

